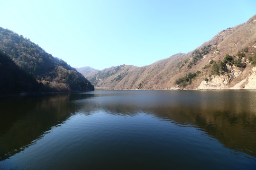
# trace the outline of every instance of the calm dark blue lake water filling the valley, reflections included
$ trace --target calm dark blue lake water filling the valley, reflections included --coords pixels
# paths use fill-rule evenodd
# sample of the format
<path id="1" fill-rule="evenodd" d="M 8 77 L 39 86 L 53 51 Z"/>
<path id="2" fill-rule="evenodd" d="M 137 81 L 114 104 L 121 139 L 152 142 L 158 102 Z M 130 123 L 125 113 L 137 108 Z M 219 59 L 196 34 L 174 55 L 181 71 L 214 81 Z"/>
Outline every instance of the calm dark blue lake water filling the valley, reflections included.
<path id="1" fill-rule="evenodd" d="M 96 91 L 0 101 L 0 169 L 256 169 L 256 91 Z"/>

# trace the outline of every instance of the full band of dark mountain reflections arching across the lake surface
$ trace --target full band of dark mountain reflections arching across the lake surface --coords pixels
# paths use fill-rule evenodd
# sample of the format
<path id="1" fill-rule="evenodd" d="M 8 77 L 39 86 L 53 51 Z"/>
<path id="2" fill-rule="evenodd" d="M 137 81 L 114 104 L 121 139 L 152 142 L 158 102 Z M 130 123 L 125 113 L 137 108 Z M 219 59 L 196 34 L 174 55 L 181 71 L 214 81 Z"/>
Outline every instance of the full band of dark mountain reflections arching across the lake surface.
<path id="1" fill-rule="evenodd" d="M 124 117 L 144 113 L 178 126 L 194 127 L 235 154 L 245 153 L 256 160 L 255 96 L 253 90 L 157 90 L 96 91 L 3 100 L 0 158 L 5 160 L 20 153 L 73 115 L 90 116 L 101 111 Z"/>

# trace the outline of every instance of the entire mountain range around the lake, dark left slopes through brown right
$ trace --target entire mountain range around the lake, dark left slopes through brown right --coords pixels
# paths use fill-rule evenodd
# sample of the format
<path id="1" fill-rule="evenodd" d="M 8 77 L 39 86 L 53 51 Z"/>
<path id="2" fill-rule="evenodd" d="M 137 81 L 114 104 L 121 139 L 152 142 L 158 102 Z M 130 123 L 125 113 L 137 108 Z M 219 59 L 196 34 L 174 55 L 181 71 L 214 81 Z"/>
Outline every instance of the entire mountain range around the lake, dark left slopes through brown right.
<path id="1" fill-rule="evenodd" d="M 103 70 L 73 68 L 22 35 L 0 27 L 0 96 L 94 88 L 256 89 L 255 66 L 256 15 L 222 30 L 191 52 L 143 67 L 124 64 Z"/>

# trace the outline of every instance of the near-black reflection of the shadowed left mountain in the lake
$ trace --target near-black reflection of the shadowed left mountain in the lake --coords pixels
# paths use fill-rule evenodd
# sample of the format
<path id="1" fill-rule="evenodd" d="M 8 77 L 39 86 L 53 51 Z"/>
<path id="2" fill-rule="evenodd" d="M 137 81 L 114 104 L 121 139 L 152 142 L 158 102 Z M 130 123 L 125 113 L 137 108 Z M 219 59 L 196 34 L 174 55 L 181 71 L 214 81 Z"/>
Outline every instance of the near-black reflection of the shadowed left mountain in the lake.
<path id="1" fill-rule="evenodd" d="M 57 94 L 40 98 L 0 101 L 0 158 L 20 152 L 51 127 L 62 123 L 77 110 L 72 100 L 90 94 Z"/>

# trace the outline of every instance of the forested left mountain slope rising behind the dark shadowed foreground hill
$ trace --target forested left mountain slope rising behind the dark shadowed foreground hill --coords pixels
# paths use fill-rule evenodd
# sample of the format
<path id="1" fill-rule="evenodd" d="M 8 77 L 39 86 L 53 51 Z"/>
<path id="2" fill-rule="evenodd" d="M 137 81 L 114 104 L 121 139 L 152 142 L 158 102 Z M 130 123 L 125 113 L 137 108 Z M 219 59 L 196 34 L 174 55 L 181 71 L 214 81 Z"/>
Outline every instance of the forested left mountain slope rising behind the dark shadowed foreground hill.
<path id="1" fill-rule="evenodd" d="M 93 85 L 65 61 L 53 57 L 22 35 L 1 27 L 0 51 L 9 56 L 26 73 L 34 75 L 37 82 L 42 83 L 47 91 L 94 90 Z"/>

